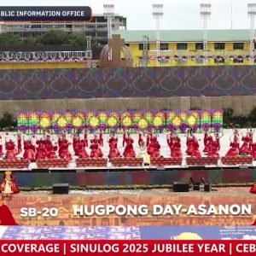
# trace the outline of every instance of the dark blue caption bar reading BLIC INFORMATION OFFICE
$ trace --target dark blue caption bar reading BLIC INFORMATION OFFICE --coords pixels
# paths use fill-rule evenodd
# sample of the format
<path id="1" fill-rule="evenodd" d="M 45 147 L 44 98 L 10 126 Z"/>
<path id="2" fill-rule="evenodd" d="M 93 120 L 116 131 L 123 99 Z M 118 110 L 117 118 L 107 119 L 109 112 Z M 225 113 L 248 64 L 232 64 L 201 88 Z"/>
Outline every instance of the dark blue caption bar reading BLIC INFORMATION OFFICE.
<path id="1" fill-rule="evenodd" d="M 0 7 L 0 21 L 4 22 L 89 22 L 91 18 L 88 6 Z"/>

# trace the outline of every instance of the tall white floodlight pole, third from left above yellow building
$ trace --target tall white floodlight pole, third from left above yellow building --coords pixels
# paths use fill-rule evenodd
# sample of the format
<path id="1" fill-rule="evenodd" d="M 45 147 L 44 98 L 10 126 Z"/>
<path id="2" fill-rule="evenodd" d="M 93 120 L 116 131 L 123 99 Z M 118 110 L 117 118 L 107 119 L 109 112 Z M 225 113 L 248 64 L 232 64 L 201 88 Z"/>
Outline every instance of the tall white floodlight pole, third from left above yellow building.
<path id="1" fill-rule="evenodd" d="M 211 3 L 201 3 L 200 4 L 200 15 L 203 20 L 203 51 L 204 51 L 204 65 L 207 64 L 208 54 L 207 54 L 207 41 L 208 41 L 208 33 L 207 33 L 207 21 L 211 16 Z"/>

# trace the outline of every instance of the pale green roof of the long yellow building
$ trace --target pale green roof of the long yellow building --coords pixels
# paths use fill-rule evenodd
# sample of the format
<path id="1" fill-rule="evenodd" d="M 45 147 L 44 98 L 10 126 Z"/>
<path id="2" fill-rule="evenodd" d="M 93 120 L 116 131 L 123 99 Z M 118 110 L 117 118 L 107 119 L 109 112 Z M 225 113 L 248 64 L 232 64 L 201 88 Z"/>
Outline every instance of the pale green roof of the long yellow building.
<path id="1" fill-rule="evenodd" d="M 156 32 L 154 30 L 126 30 L 114 31 L 125 39 L 125 43 L 143 42 L 143 36 L 148 36 L 149 42 L 154 42 Z M 207 40 L 209 42 L 248 42 L 250 41 L 250 30 L 208 30 Z M 203 30 L 161 30 L 161 42 L 202 42 Z"/>

